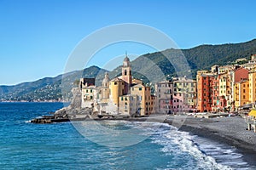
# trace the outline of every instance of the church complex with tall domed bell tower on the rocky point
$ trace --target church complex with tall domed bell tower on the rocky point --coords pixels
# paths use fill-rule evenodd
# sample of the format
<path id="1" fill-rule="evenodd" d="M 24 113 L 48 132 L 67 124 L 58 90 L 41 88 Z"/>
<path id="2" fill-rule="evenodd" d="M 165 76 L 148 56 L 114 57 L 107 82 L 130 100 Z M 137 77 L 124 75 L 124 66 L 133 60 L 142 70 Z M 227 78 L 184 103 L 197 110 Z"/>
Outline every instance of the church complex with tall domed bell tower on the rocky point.
<path id="1" fill-rule="evenodd" d="M 82 108 L 93 107 L 96 114 L 149 115 L 154 113 L 154 95 L 150 87 L 131 76 L 131 61 L 125 56 L 122 75 L 110 80 L 108 72 L 102 86 L 96 87 L 95 78 L 81 78 Z"/>

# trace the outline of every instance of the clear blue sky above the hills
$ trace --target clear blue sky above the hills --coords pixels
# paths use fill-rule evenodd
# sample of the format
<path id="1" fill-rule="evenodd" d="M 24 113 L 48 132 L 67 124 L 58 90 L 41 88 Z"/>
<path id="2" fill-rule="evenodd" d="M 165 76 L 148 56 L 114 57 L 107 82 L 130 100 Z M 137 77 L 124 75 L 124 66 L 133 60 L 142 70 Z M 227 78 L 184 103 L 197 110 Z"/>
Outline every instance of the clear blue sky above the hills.
<path id="1" fill-rule="evenodd" d="M 247 42 L 256 38 L 255 5 L 254 0 L 0 0 L 0 85 L 63 73 L 84 37 L 122 23 L 151 26 L 178 48 Z M 154 48 L 113 44 L 84 66 L 104 67 L 125 51 L 139 56 Z"/>

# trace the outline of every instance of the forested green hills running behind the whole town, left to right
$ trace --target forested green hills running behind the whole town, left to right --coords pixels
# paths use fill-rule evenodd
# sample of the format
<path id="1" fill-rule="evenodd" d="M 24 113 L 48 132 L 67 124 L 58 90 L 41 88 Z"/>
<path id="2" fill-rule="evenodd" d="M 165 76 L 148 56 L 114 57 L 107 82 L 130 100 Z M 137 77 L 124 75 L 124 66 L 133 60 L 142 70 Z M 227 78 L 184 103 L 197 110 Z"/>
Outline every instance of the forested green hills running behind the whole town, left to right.
<path id="1" fill-rule="evenodd" d="M 201 45 L 189 49 L 166 49 L 165 51 L 152 54 L 143 54 L 131 62 L 132 75 L 143 79 L 143 82 L 154 82 L 170 79 L 177 76 L 175 65 L 185 65 L 183 60 L 178 60 L 178 56 L 183 55 L 189 63 L 187 67 L 178 70 L 179 75 L 186 75 L 188 72 L 195 78 L 197 70 L 209 69 L 212 65 L 232 64 L 236 59 L 247 58 L 251 54 L 256 54 L 256 39 L 249 42 L 228 43 L 222 45 Z M 166 59 L 166 56 L 168 59 Z M 172 61 L 172 63 L 170 62 Z M 173 65 L 174 66 L 173 66 Z M 61 98 L 61 78 L 65 80 L 67 88 L 62 88 L 62 93 L 69 98 L 70 89 L 73 82 L 80 77 L 97 77 L 97 84 L 100 83 L 105 70 L 91 66 L 83 71 L 73 71 L 58 77 L 46 77 L 35 82 L 24 82 L 15 86 L 0 86 L 0 99 L 2 100 L 50 100 Z M 117 67 L 109 72 L 110 77 L 117 77 L 121 73 L 121 67 Z M 64 84 L 65 84 L 64 83 Z"/>

